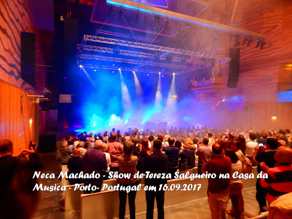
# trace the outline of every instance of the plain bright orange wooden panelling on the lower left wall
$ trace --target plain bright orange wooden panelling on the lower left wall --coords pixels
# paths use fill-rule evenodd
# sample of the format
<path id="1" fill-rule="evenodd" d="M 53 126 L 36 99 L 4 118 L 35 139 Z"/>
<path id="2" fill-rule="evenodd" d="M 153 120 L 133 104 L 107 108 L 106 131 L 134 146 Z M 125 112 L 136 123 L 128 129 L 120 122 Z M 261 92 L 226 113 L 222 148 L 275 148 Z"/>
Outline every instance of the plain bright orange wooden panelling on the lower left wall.
<path id="1" fill-rule="evenodd" d="M 30 93 L 0 80 L 0 139 L 9 139 L 13 142 L 14 156 L 28 148 L 35 134 L 34 104 L 30 105 L 31 99 L 23 99 L 21 113 L 20 95 Z M 29 122 L 30 118 L 33 119 L 32 124 Z"/>

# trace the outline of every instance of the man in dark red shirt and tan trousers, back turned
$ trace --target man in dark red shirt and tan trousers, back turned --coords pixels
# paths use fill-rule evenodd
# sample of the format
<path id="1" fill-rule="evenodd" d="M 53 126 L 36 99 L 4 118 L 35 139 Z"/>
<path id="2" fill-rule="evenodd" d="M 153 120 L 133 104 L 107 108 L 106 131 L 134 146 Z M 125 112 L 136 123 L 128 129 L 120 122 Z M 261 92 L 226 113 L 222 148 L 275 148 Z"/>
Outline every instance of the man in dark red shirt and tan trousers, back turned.
<path id="1" fill-rule="evenodd" d="M 214 179 L 208 178 L 208 202 L 211 218 L 227 218 L 230 179 L 219 178 L 218 176 L 220 174 L 231 174 L 231 160 L 224 156 L 225 152 L 219 144 L 214 144 L 212 151 L 213 158 L 201 169 L 202 173 L 208 171 L 208 173 L 214 173 L 217 176 Z"/>

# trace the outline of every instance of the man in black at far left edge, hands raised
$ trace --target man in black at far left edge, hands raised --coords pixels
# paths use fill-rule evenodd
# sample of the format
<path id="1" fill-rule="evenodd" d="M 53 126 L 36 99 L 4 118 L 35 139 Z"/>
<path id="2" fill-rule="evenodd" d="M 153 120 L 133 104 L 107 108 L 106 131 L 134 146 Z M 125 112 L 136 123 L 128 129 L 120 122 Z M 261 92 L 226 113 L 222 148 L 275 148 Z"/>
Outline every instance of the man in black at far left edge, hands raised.
<path id="1" fill-rule="evenodd" d="M 67 143 L 67 142 L 66 142 Z M 24 149 L 13 157 L 10 140 L 0 141 L 0 218 L 28 219 L 36 210 L 39 194 L 34 190 L 38 183 L 35 171 L 43 169 L 40 156 L 33 150 Z M 28 160 L 25 155 L 29 154 Z"/>

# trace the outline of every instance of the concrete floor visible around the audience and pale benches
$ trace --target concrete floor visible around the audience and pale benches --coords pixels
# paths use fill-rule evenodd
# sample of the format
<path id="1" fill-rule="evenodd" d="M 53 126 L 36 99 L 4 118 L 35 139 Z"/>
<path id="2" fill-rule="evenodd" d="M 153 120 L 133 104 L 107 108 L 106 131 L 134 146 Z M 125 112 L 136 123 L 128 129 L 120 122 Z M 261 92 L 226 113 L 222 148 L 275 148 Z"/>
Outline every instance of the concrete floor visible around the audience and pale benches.
<path id="1" fill-rule="evenodd" d="M 57 148 L 60 148 L 57 145 Z M 56 176 L 60 173 L 60 154 L 57 152 L 43 153 L 42 159 L 45 163 L 45 169 L 42 172 L 54 173 Z M 57 178 L 57 177 L 56 177 Z M 61 179 L 39 179 L 39 183 L 45 185 L 61 184 Z M 251 215 L 257 216 L 259 212 L 258 203 L 256 201 L 255 187 L 243 190 L 245 211 Z M 118 201 L 116 203 L 119 204 Z M 78 219 L 80 218 L 80 210 L 64 212 L 64 193 L 62 191 L 41 191 L 39 204 L 32 215 L 33 219 Z M 229 201 L 228 209 L 231 208 L 231 201 Z M 129 217 L 126 217 L 129 218 Z M 136 219 L 146 218 L 146 212 L 136 215 Z M 154 210 L 154 218 L 157 218 L 157 211 Z M 208 205 L 207 198 L 199 199 L 196 201 L 169 206 L 165 208 L 165 219 L 177 218 L 197 218 L 208 219 L 211 218 L 211 213 Z M 228 218 L 233 218 L 228 216 Z M 248 218 L 242 216 L 242 218 Z"/>

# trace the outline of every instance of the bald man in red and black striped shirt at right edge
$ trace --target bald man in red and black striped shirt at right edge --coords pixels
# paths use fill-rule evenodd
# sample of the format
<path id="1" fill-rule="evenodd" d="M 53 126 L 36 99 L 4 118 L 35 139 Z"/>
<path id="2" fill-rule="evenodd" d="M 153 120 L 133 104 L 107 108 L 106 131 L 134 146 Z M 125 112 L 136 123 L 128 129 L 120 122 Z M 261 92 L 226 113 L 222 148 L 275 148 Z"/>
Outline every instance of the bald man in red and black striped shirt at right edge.
<path id="1" fill-rule="evenodd" d="M 278 196 L 292 192 L 292 149 L 286 146 L 278 147 L 274 155 L 277 164 L 274 168 L 268 168 L 267 179 L 261 179 L 262 187 L 267 188 L 267 200 L 271 204 Z M 260 163 L 264 166 L 264 162 Z"/>

